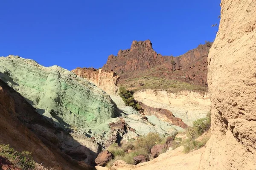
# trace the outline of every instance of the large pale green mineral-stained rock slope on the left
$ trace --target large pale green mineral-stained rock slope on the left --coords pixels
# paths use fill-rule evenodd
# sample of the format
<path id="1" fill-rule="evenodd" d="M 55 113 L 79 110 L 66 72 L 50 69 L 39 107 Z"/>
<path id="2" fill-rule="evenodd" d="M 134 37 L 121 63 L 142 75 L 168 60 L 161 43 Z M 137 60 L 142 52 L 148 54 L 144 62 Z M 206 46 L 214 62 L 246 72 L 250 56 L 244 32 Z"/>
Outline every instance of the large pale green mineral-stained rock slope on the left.
<path id="1" fill-rule="evenodd" d="M 43 67 L 18 56 L 0 57 L 0 79 L 56 125 L 91 128 L 118 116 L 108 94 L 58 66 Z"/>

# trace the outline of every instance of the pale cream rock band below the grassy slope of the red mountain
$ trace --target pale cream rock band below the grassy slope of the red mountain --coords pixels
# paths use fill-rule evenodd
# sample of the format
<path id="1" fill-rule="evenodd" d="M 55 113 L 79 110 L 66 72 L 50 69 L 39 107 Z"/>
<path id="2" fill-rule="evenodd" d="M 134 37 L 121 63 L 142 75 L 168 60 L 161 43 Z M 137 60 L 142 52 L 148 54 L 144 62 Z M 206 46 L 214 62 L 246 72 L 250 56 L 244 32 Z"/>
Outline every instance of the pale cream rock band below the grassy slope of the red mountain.
<path id="1" fill-rule="evenodd" d="M 196 119 L 206 117 L 211 103 L 208 94 L 200 91 L 172 93 L 166 90 L 146 89 L 134 93 L 134 99 L 151 108 L 167 109 L 175 117 L 182 119 L 186 125 L 192 125 Z M 154 115 L 168 121 L 164 114 L 155 113 Z"/>

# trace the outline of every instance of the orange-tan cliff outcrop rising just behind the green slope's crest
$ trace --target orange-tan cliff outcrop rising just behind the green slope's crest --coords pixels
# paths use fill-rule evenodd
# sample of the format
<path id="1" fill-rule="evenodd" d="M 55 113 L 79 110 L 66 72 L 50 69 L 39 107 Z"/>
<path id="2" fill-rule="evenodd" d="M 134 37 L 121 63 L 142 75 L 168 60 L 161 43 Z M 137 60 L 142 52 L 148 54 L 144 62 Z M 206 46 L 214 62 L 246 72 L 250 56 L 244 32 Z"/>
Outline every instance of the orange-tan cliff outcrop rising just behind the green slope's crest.
<path id="1" fill-rule="evenodd" d="M 95 68 L 76 68 L 72 70 L 76 75 L 93 82 L 98 88 L 107 92 L 109 95 L 116 95 L 118 87 L 116 86 L 117 80 L 120 78 L 113 71 L 106 71 L 103 69 Z"/>

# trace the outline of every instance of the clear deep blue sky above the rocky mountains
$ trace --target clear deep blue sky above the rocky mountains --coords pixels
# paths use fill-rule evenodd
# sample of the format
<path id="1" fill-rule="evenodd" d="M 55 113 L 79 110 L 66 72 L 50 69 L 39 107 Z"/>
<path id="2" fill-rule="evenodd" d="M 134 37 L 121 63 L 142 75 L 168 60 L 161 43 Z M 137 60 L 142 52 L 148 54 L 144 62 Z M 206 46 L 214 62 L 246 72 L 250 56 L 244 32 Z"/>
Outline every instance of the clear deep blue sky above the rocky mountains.
<path id="1" fill-rule="evenodd" d="M 102 67 L 133 40 L 178 56 L 215 39 L 220 0 L 1 0 L 0 56 Z"/>

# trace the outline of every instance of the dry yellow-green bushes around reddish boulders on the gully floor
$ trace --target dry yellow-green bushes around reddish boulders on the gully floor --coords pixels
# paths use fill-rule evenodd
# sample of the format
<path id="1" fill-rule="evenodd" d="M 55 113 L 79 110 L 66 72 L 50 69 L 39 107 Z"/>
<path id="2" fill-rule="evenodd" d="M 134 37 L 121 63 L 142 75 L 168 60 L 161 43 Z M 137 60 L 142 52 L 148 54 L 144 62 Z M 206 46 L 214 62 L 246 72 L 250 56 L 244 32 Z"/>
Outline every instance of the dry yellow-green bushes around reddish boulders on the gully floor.
<path id="1" fill-rule="evenodd" d="M 144 155 L 149 160 L 151 154 L 151 148 L 155 144 L 163 144 L 166 142 L 166 138 L 160 136 L 157 133 L 148 133 L 146 136 L 140 136 L 134 142 L 127 142 L 118 146 L 118 144 L 112 144 L 107 150 L 114 155 L 114 159 L 108 162 L 107 167 L 111 167 L 117 160 L 123 160 L 128 164 L 134 164 L 134 157 L 138 155 Z M 166 150 L 163 150 L 164 152 Z"/>

